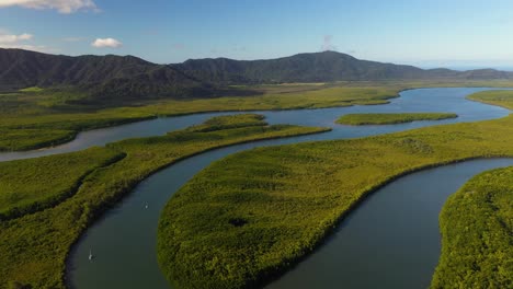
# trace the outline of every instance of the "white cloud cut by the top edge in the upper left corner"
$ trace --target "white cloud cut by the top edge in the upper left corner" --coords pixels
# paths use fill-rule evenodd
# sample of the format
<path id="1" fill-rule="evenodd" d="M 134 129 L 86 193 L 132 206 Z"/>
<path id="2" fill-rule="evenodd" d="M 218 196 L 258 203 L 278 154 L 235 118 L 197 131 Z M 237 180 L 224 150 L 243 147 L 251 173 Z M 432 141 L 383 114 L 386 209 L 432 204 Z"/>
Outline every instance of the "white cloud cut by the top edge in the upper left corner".
<path id="1" fill-rule="evenodd" d="M 14 5 L 29 9 L 55 9 L 62 14 L 70 14 L 79 10 L 99 11 L 92 0 L 0 0 L 0 8 Z"/>

